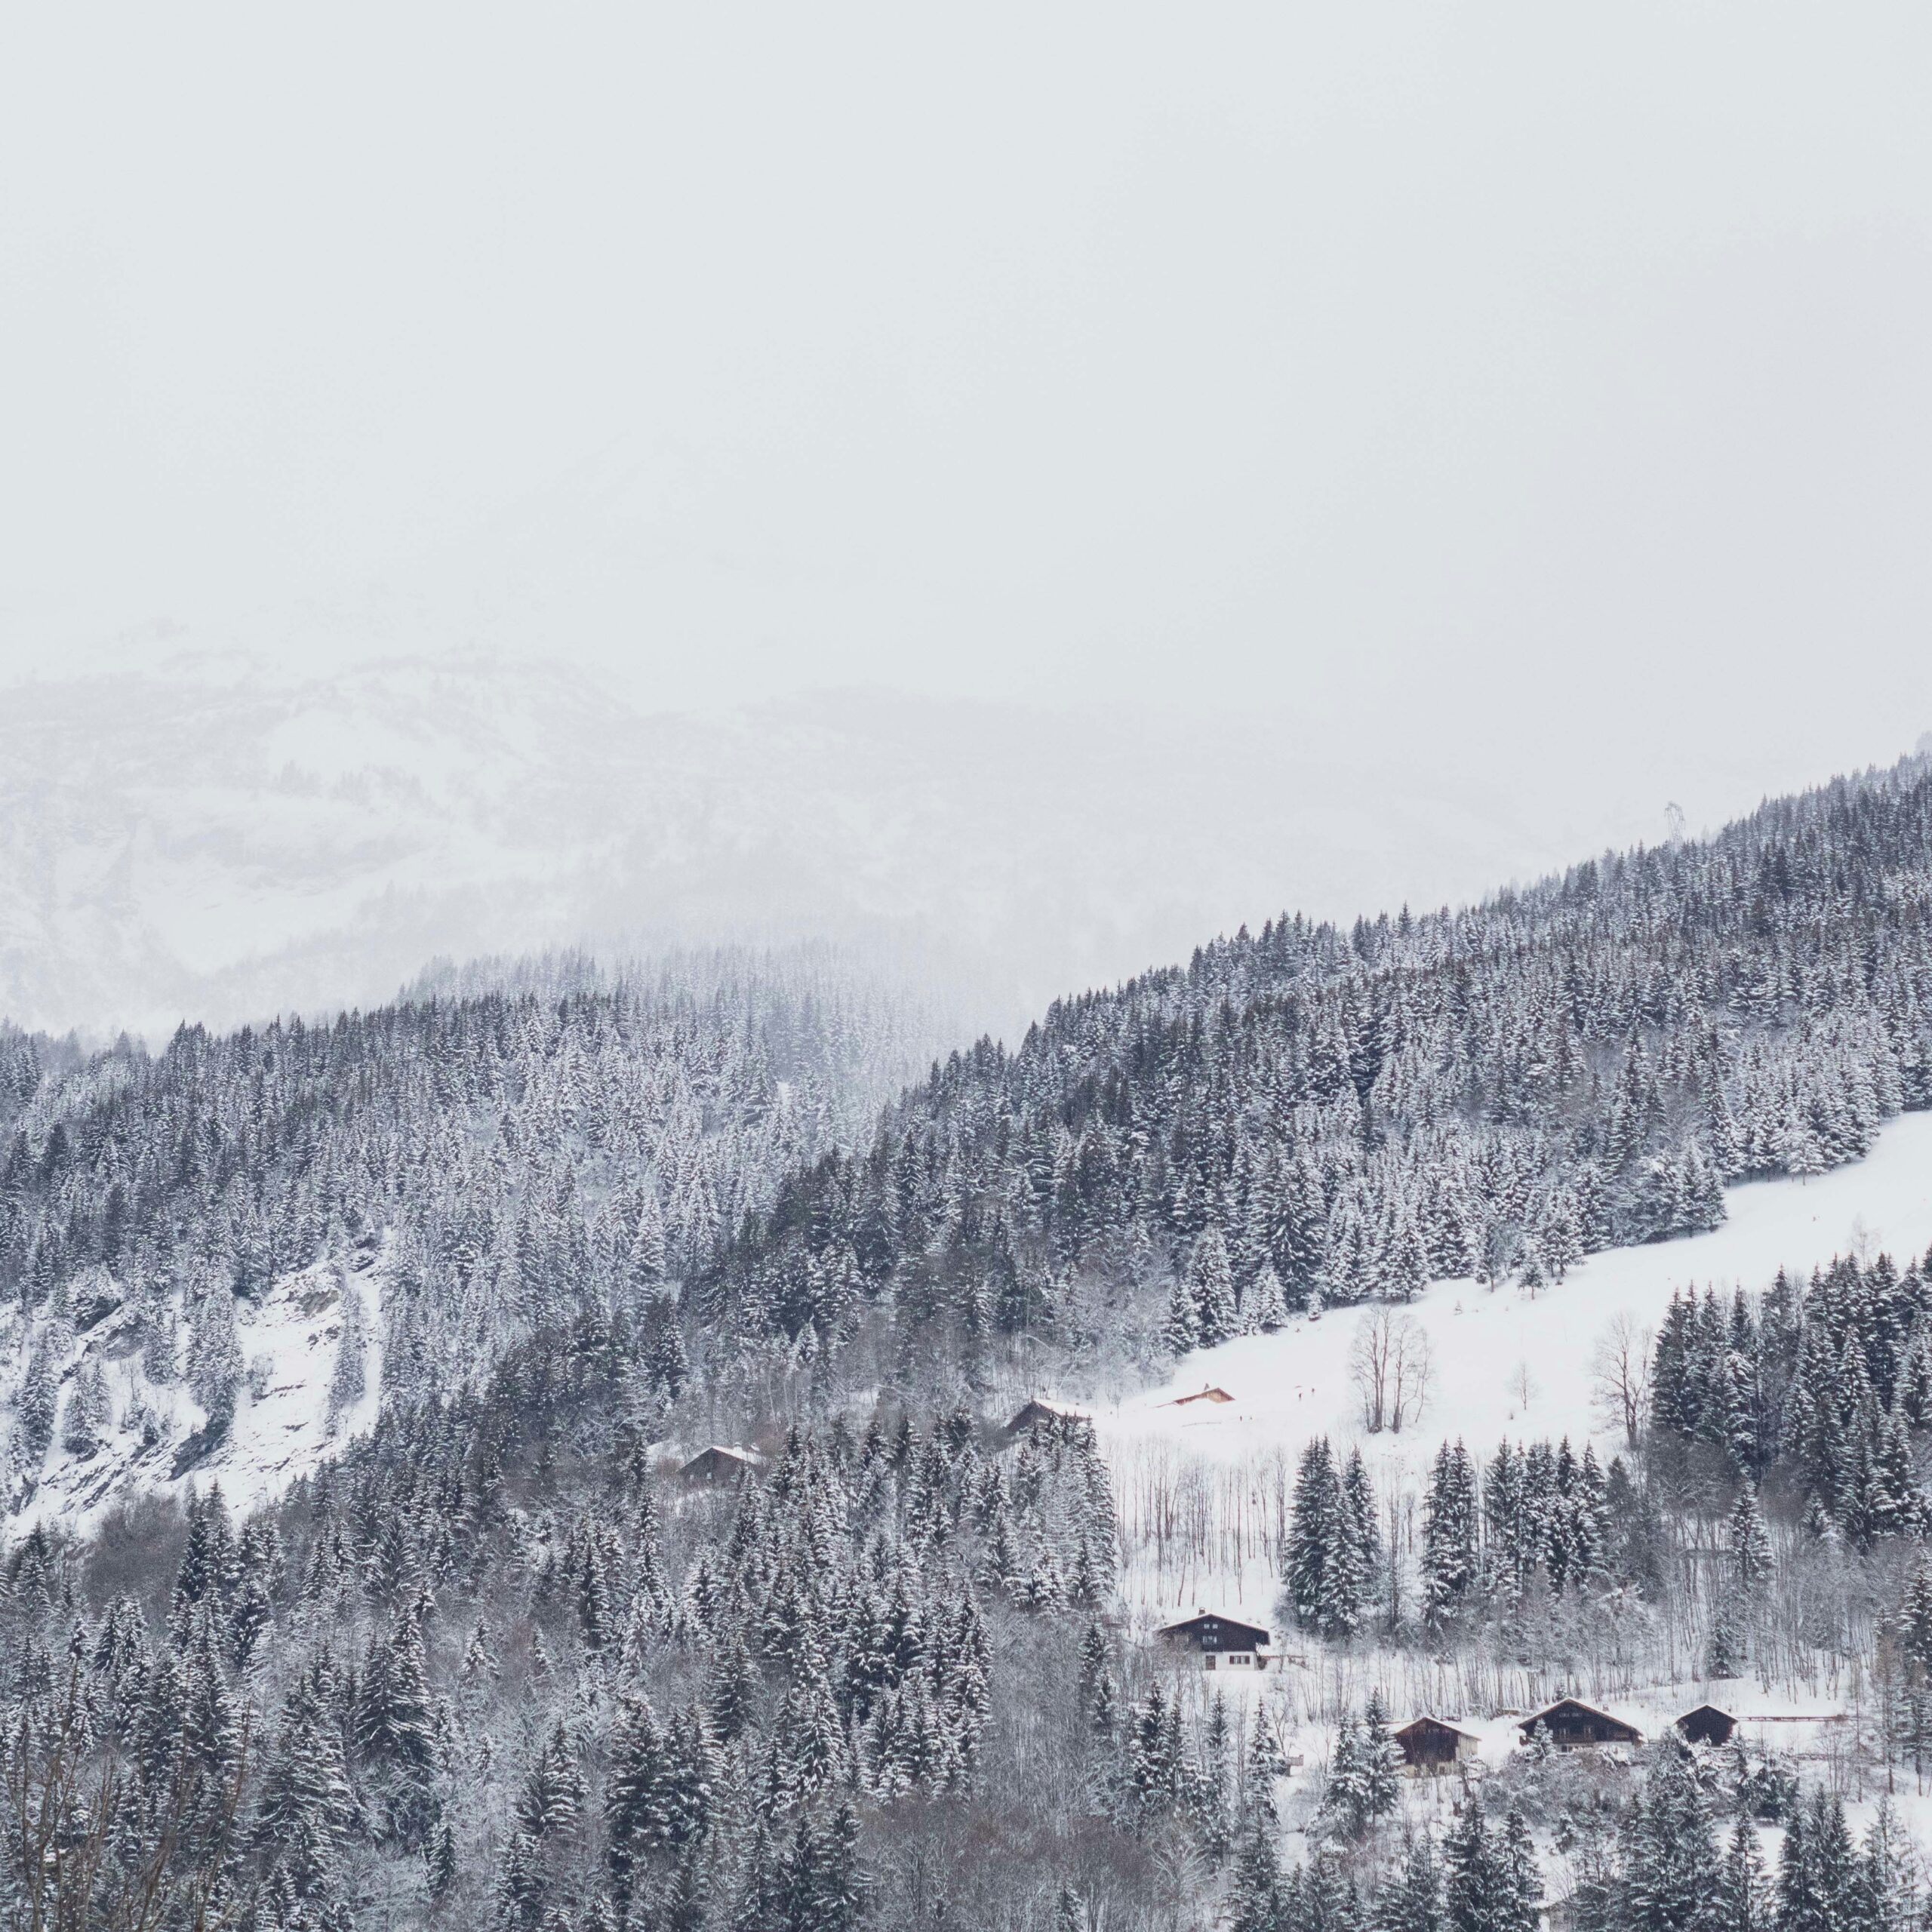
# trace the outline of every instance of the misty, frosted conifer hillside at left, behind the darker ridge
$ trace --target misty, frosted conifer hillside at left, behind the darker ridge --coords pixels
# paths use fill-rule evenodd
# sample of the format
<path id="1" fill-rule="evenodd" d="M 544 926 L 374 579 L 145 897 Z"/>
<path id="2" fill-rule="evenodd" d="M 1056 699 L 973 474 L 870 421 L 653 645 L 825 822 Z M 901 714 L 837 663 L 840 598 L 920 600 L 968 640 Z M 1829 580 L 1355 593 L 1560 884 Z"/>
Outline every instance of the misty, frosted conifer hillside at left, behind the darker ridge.
<path id="1" fill-rule="evenodd" d="M 446 1393 L 589 1306 L 655 1302 L 674 1333 L 670 1283 L 862 1132 L 920 1049 L 831 956 L 524 978 L 330 1026 L 184 1028 L 155 1057 L 0 1043 L 10 1507 L 50 1451 L 156 1428 L 214 1451 L 265 1393 L 253 1318 L 311 1264 L 334 1296 L 381 1248 L 388 1399 Z M 313 1364 L 313 1406 L 330 1378 Z"/>

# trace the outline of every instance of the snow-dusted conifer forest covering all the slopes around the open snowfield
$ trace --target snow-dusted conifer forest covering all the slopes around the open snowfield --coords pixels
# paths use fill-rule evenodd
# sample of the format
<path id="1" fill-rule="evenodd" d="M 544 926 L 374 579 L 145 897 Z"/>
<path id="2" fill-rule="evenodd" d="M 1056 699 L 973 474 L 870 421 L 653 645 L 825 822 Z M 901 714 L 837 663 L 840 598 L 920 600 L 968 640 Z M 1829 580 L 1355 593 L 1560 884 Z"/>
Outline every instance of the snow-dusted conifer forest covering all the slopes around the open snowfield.
<path id="1" fill-rule="evenodd" d="M 1932 1107 L 1924 759 L 931 1045 L 829 952 L 0 1032 L 6 1922 L 1932 1924 L 1932 1256 L 1687 1277 L 1609 1437 L 1422 1408 L 1412 1495 L 1316 1435 L 1233 1567 L 1200 1472 L 1010 1426 L 1861 1161 Z M 1236 1685 L 1146 1605 L 1242 1565 Z M 1832 1745 L 1534 1721 L 1683 1683 Z M 1420 1714 L 1524 1735 L 1410 1779 Z"/>

